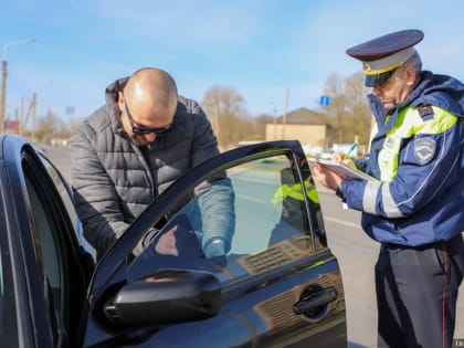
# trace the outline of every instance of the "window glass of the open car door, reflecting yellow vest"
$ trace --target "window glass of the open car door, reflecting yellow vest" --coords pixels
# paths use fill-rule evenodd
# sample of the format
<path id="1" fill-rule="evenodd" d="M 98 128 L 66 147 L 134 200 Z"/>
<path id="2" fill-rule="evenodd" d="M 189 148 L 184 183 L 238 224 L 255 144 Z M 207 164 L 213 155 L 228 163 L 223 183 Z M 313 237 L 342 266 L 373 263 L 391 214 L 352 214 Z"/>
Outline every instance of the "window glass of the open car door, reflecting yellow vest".
<path id="1" fill-rule="evenodd" d="M 313 253 L 305 202 L 318 205 L 317 193 L 309 181 L 302 187 L 293 167 L 285 156 L 253 160 L 199 184 L 133 261 L 129 278 L 158 267 L 196 268 L 230 284 Z M 232 196 L 224 194 L 228 188 Z M 205 257 L 205 242 L 214 236 L 230 241 L 225 262 Z"/>

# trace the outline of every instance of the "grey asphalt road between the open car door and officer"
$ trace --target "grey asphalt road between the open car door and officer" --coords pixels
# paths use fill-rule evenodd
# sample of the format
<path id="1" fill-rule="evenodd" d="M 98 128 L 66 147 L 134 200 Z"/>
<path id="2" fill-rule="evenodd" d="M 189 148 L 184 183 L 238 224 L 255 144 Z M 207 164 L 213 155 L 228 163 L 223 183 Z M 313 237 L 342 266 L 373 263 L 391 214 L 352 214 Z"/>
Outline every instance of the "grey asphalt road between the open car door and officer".
<path id="1" fill-rule="evenodd" d="M 65 178 L 70 176 L 68 147 L 46 147 L 50 159 Z M 339 260 L 344 277 L 349 348 L 376 347 L 377 310 L 373 283 L 373 265 L 379 244 L 360 229 L 359 212 L 344 210 L 339 199 L 330 191 L 318 187 L 327 239 Z M 457 304 L 454 337 L 464 339 L 464 283 Z"/>

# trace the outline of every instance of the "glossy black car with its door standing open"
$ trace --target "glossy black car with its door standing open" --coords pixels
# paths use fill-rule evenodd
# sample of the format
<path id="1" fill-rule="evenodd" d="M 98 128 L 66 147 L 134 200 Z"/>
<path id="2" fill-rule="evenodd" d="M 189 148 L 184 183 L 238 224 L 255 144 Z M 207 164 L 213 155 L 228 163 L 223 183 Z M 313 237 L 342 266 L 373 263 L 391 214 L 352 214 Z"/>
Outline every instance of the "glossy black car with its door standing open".
<path id="1" fill-rule="evenodd" d="M 97 263 L 46 154 L 12 135 L 0 146 L 1 347 L 346 347 L 340 270 L 298 141 L 193 168 Z M 194 222 L 204 182 L 234 192 L 221 260 Z M 173 226 L 178 253 L 158 253 Z"/>

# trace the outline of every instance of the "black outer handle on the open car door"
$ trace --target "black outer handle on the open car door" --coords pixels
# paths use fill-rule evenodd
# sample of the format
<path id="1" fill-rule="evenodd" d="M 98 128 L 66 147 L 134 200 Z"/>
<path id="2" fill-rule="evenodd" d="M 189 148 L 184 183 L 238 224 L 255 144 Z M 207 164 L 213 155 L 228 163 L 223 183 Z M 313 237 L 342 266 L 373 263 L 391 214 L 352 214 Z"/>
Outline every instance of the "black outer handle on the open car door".
<path id="1" fill-rule="evenodd" d="M 315 316 L 336 298 L 337 289 L 334 286 L 327 288 L 313 287 L 305 292 L 302 298 L 293 305 L 293 312 L 297 315 Z"/>

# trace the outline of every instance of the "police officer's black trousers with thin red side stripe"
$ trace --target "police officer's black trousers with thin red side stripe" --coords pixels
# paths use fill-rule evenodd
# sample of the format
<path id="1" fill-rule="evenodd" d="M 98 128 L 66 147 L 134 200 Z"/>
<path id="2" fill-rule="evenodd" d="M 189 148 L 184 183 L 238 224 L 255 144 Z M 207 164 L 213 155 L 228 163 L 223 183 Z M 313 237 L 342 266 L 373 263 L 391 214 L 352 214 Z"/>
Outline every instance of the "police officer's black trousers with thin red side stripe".
<path id="1" fill-rule="evenodd" d="M 463 274 L 461 234 L 414 249 L 382 244 L 376 264 L 378 347 L 452 347 Z"/>

